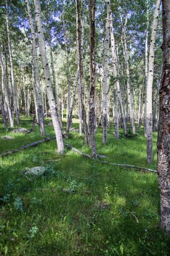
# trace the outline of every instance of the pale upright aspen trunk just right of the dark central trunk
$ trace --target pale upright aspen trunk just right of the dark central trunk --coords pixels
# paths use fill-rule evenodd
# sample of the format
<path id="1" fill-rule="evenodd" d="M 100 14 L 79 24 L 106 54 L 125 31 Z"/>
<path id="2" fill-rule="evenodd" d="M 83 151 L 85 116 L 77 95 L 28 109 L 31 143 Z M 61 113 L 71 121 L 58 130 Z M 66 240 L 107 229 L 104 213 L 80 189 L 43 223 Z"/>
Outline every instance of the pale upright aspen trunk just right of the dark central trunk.
<path id="1" fill-rule="evenodd" d="M 108 94 L 109 94 L 109 25 L 110 25 L 110 14 L 109 14 L 109 2 L 106 1 L 106 35 L 104 45 L 104 78 L 103 78 L 103 143 L 106 144 L 108 140 L 107 127 L 108 127 Z"/>

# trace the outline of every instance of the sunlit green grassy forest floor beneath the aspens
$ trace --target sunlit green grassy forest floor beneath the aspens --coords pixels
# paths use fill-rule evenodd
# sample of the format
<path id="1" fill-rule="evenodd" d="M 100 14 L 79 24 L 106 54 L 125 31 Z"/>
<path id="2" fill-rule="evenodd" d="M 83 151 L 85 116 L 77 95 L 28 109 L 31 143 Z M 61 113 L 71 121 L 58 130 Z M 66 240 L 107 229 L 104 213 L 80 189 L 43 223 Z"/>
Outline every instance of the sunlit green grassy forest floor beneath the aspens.
<path id="1" fill-rule="evenodd" d="M 32 120 L 22 117 L 20 127 L 30 129 Z M 143 134 L 115 140 L 113 132 L 111 127 L 107 145 L 101 127 L 96 134 L 104 160 L 156 170 L 156 132 L 153 165 L 146 162 Z M 46 125 L 46 137 L 51 135 L 53 127 Z M 0 153 L 41 139 L 38 126 L 25 135 L 5 131 L 1 121 Z M 65 142 L 91 152 L 78 132 Z M 40 166 L 46 168 L 43 175 L 24 175 Z M 170 255 L 170 239 L 159 229 L 156 173 L 100 163 L 70 149 L 57 155 L 55 140 L 1 157 L 0 255 Z"/>

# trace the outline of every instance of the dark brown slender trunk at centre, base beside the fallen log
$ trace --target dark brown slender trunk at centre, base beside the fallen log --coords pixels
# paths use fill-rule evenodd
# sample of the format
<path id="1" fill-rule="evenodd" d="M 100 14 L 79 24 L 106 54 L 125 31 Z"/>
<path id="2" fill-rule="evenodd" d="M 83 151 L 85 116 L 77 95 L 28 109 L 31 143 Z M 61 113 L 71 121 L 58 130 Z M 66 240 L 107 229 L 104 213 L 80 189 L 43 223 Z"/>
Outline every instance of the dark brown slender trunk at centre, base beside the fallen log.
<path id="1" fill-rule="evenodd" d="M 95 144 L 95 0 L 90 0 L 90 74 L 91 88 L 89 101 L 89 137 L 93 157 L 96 158 Z"/>

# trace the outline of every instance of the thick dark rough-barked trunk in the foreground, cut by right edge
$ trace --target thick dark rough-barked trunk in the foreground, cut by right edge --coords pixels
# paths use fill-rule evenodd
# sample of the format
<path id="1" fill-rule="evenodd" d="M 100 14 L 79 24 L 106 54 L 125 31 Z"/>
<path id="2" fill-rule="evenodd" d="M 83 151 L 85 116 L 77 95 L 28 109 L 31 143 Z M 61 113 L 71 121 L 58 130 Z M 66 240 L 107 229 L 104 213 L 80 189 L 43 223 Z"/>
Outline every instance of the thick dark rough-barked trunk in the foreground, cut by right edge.
<path id="1" fill-rule="evenodd" d="M 158 125 L 158 183 L 161 198 L 161 228 L 170 234 L 170 175 L 169 175 L 169 137 L 170 137 L 170 1 L 163 0 L 163 54 L 164 65 L 159 90 Z"/>

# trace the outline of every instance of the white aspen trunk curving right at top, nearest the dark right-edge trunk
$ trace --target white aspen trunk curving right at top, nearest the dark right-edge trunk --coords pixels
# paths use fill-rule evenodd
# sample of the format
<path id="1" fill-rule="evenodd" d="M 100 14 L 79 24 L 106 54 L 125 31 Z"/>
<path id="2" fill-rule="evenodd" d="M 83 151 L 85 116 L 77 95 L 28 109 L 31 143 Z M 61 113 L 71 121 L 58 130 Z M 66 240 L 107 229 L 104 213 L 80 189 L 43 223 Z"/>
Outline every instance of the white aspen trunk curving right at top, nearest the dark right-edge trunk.
<path id="1" fill-rule="evenodd" d="M 156 41 L 156 29 L 158 26 L 159 6 L 161 0 L 156 1 L 156 7 L 153 17 L 153 27 L 151 32 L 150 41 L 150 54 L 148 65 L 148 83 L 147 83 L 147 163 L 153 163 L 153 113 L 152 113 L 152 88 L 153 88 L 153 68 L 154 68 L 154 56 L 155 56 L 155 41 Z"/>

